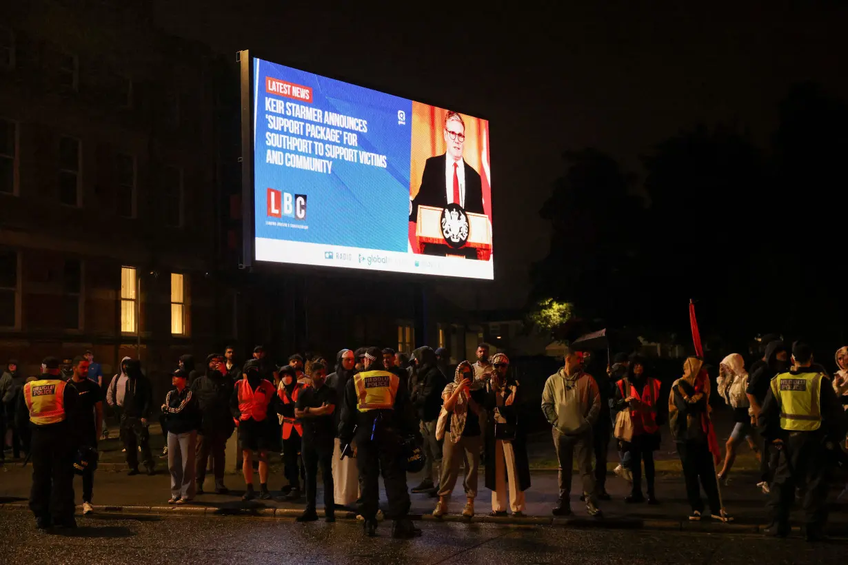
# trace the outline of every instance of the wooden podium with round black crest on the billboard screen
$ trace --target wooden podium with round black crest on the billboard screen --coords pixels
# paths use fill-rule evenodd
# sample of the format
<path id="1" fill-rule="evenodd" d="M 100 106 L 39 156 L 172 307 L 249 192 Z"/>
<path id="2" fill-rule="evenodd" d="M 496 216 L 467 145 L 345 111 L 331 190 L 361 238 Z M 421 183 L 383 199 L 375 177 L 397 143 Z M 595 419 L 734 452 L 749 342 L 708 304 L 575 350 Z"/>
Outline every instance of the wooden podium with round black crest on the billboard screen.
<path id="1" fill-rule="evenodd" d="M 455 204 L 447 208 L 419 206 L 416 222 L 417 252 L 488 261 L 492 255 L 492 224 L 482 213 L 466 212 Z"/>

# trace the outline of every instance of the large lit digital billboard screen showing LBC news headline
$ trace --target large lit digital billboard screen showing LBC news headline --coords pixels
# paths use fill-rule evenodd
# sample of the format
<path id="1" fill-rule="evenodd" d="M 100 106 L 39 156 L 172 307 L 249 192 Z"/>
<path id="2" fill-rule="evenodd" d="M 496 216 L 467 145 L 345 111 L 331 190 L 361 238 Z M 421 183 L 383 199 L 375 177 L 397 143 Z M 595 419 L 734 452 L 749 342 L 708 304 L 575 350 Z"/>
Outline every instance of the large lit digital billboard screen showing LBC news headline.
<path id="1" fill-rule="evenodd" d="M 494 278 L 487 120 L 251 64 L 257 261 Z"/>

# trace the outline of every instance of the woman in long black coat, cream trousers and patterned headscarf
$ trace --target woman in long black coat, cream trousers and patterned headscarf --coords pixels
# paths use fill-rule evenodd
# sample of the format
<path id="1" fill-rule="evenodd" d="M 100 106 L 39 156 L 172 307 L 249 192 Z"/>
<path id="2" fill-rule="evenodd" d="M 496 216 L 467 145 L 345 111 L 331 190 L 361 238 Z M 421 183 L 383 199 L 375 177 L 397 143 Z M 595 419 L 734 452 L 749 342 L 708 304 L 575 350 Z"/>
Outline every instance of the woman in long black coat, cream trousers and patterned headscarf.
<path id="1" fill-rule="evenodd" d="M 512 515 L 524 516 L 524 491 L 530 488 L 527 461 L 527 433 L 519 417 L 520 386 L 507 374 L 510 359 L 495 353 L 490 359 L 492 378 L 485 386 L 486 396 L 486 488 L 492 491 L 492 516 L 506 516 L 507 484 Z M 507 480 L 508 479 L 508 480 Z"/>

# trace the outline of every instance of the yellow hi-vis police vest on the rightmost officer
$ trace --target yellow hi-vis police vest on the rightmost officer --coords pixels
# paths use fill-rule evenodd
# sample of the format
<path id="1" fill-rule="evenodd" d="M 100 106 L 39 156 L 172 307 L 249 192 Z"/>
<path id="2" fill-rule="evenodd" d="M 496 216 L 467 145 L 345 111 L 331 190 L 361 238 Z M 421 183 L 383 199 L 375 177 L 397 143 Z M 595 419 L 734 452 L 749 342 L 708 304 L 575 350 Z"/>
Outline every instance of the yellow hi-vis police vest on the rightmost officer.
<path id="1" fill-rule="evenodd" d="M 772 394 L 780 407 L 780 427 L 788 431 L 812 432 L 822 425 L 818 400 L 821 373 L 784 373 L 772 379 Z"/>

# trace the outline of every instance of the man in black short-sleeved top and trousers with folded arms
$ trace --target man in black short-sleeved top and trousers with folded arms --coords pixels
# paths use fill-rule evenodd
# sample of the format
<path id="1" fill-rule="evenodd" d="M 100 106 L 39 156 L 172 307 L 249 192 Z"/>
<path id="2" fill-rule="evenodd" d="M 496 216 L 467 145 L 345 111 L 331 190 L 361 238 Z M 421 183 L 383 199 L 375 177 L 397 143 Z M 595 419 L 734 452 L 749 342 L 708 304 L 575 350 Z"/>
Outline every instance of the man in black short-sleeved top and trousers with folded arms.
<path id="1" fill-rule="evenodd" d="M 326 368 L 312 363 L 312 386 L 307 386 L 298 398 L 294 414 L 304 423 L 302 451 L 306 468 L 306 510 L 298 522 L 314 522 L 315 484 L 318 467 L 324 480 L 324 515 L 327 522 L 335 522 L 335 501 L 332 484 L 332 444 L 335 439 L 336 389 L 326 385 Z"/>

